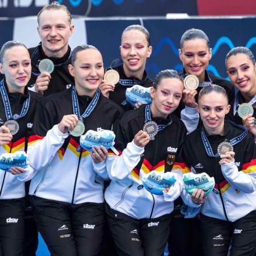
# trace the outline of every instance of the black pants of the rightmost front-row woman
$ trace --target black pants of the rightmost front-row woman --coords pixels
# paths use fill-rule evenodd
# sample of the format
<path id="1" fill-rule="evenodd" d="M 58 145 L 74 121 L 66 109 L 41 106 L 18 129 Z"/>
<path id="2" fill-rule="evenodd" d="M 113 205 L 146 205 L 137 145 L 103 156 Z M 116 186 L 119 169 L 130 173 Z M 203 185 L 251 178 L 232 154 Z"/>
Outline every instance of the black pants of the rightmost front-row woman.
<path id="1" fill-rule="evenodd" d="M 256 211 L 237 221 L 223 221 L 201 215 L 205 256 L 253 256 L 256 251 Z"/>

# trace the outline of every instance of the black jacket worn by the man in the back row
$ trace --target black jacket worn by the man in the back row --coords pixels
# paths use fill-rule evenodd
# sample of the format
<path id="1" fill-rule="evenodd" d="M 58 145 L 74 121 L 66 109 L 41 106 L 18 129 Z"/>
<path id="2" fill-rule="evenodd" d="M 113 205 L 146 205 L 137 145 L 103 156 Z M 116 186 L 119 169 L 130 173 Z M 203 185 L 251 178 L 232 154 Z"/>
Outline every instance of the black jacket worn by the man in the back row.
<path id="1" fill-rule="evenodd" d="M 42 59 L 50 59 L 54 63 L 54 70 L 51 73 L 51 79 L 48 89 L 43 92 L 43 96 L 47 96 L 60 91 L 65 91 L 74 83 L 74 77 L 69 73 L 69 64 L 71 64 L 71 49 L 62 58 L 48 57 L 43 53 L 42 44 L 29 49 L 31 58 L 32 73 L 29 81 L 29 86 L 33 87 L 37 81 L 40 71 L 38 69 L 38 61 Z"/>

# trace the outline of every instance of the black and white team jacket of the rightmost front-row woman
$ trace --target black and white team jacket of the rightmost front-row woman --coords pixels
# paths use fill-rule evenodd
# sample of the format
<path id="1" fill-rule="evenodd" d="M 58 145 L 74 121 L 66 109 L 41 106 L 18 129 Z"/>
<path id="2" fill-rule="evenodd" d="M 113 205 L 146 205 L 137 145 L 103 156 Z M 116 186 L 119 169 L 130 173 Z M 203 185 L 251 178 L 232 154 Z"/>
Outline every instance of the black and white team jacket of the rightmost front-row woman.
<path id="1" fill-rule="evenodd" d="M 233 139 L 243 130 L 225 121 L 225 134 L 207 136 L 213 154 L 225 139 Z M 187 135 L 183 149 L 186 166 L 194 173 L 207 173 L 215 179 L 215 189 L 202 205 L 202 214 L 237 221 L 256 209 L 256 148 L 253 135 L 246 137 L 234 146 L 235 161 L 219 165 L 220 157 L 207 155 L 201 138 L 201 129 Z"/>

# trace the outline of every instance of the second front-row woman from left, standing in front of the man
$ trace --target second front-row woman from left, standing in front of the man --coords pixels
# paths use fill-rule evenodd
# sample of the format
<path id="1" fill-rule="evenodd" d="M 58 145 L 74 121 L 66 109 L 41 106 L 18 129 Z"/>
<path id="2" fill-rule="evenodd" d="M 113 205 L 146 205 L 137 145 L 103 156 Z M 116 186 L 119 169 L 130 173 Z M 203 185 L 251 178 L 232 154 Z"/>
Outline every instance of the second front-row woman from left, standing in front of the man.
<path id="1" fill-rule="evenodd" d="M 105 220 L 103 178 L 93 170 L 90 152 L 79 147 L 88 130 L 111 130 L 123 110 L 98 89 L 104 69 L 91 45 L 76 47 L 70 74 L 75 85 L 43 98 L 35 114 L 28 149 L 35 222 L 51 255 L 97 255 Z M 97 159 L 106 158 L 98 148 Z M 33 170 L 34 169 L 34 170 Z"/>

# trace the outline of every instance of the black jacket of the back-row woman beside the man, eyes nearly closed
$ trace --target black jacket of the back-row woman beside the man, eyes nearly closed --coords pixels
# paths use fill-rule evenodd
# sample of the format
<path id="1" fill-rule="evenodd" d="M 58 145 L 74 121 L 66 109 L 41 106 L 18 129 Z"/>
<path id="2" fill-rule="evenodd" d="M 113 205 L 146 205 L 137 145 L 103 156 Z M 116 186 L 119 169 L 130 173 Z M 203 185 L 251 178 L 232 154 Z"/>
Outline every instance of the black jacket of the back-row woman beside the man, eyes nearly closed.
<path id="1" fill-rule="evenodd" d="M 137 77 L 126 77 L 125 75 L 125 71 L 123 71 L 123 65 L 120 65 L 118 67 L 113 67 L 114 70 L 118 71 L 120 79 L 126 80 L 133 80 L 133 84 L 132 85 L 121 85 L 119 82 L 115 85 L 115 89 L 114 91 L 110 91 L 109 92 L 109 98 L 112 99 L 114 102 L 117 102 L 118 105 L 122 106 L 122 102 L 126 100 L 126 89 L 130 88 L 134 85 L 141 85 L 143 87 L 151 87 L 153 86 L 153 81 L 147 77 L 147 73 L 146 71 L 144 71 L 143 74 L 143 79 L 140 80 Z M 123 109 L 127 110 L 131 110 L 134 109 L 133 106 L 130 105 L 130 103 L 127 103 L 125 106 L 122 106 Z"/>

